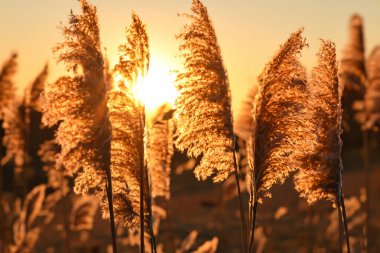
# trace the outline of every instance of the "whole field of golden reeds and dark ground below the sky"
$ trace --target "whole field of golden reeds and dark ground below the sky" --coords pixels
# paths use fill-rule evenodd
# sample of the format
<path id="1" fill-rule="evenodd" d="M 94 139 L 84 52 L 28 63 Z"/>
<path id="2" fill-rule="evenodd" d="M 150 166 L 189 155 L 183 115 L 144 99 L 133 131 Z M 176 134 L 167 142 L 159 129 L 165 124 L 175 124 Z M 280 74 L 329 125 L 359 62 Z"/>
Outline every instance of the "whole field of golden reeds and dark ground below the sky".
<path id="1" fill-rule="evenodd" d="M 147 25 L 132 13 L 118 62 L 79 0 L 49 66 L 23 90 L 0 72 L 0 253 L 379 252 L 380 47 L 354 14 L 340 59 L 304 28 L 262 66 L 233 117 L 222 48 L 193 0 L 176 35 L 175 98 L 147 107 Z M 157 81 L 160 85 L 162 80 Z"/>

